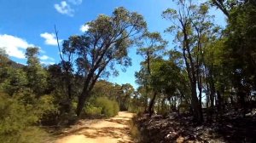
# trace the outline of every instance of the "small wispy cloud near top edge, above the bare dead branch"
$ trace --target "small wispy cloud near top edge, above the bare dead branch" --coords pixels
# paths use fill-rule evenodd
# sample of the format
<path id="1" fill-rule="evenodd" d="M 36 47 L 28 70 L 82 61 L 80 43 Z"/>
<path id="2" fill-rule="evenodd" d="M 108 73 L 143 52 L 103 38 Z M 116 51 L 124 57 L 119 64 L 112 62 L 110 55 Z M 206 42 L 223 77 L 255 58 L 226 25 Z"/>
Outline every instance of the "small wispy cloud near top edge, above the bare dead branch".
<path id="1" fill-rule="evenodd" d="M 67 14 L 68 16 L 73 16 L 74 9 L 66 1 L 61 1 L 61 3 L 55 3 L 55 9 L 61 14 Z"/>

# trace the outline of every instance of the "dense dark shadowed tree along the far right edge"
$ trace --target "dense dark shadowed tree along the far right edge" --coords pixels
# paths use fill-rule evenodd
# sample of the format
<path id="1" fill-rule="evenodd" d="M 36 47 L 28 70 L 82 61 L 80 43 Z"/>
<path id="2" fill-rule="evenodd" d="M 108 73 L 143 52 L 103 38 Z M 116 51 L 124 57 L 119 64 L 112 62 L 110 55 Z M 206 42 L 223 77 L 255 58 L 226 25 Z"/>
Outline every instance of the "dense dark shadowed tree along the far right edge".
<path id="1" fill-rule="evenodd" d="M 233 9 L 227 27 L 227 42 L 224 43 L 232 59 L 232 83 L 236 89 L 238 103 L 246 108 L 245 102 L 256 89 L 256 3 L 248 1 Z M 246 109 L 244 109 L 244 115 Z"/>

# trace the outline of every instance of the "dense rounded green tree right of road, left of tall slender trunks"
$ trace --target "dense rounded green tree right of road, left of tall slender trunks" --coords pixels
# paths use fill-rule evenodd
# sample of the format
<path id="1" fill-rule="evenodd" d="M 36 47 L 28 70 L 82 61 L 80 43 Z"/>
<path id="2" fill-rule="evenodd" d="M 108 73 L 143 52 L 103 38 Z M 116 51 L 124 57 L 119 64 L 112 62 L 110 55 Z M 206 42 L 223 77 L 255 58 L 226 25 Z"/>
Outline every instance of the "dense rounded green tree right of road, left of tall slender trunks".
<path id="1" fill-rule="evenodd" d="M 161 99 L 162 107 L 166 100 L 169 101 L 170 106 L 176 107 L 177 99 L 182 98 L 182 95 L 178 93 L 180 85 L 182 84 L 181 69 L 172 60 L 156 59 L 152 62 L 150 85 L 155 91 L 163 94 Z M 183 91 L 181 93 L 183 93 Z"/>

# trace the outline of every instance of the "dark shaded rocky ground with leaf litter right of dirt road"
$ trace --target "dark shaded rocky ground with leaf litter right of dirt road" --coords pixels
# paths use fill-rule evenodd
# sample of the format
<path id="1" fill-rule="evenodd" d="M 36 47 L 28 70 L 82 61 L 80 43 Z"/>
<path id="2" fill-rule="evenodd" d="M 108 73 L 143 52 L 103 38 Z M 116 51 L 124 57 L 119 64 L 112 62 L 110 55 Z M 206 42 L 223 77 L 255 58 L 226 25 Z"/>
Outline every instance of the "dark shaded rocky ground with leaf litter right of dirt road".
<path id="1" fill-rule="evenodd" d="M 189 114 L 171 113 L 166 117 L 147 115 L 137 117 L 142 141 L 150 143 L 202 142 L 253 143 L 256 142 L 256 116 L 241 117 L 227 112 L 221 119 L 197 125 Z"/>

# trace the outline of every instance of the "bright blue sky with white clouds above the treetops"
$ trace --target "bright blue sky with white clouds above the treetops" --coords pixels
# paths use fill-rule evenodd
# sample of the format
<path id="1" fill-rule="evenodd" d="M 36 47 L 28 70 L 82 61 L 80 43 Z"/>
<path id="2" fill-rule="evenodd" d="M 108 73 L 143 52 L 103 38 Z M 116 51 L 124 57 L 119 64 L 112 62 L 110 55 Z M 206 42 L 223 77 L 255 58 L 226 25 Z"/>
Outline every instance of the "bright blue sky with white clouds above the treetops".
<path id="1" fill-rule="evenodd" d="M 148 30 L 160 31 L 172 43 L 172 36 L 163 32 L 170 26 L 170 21 L 160 16 L 167 8 L 175 8 L 172 0 L 0 0 L 0 47 L 7 50 L 12 60 L 26 63 L 26 47 L 37 46 L 42 63 L 58 63 L 54 26 L 61 39 L 81 35 L 86 30 L 82 27 L 84 23 L 95 20 L 98 14 L 110 15 L 120 6 L 143 14 Z M 212 14 L 216 14 L 216 23 L 224 25 L 223 14 L 215 9 Z M 171 49 L 172 44 L 168 48 Z M 132 66 L 126 72 L 120 72 L 119 77 L 109 77 L 108 81 L 131 83 L 137 87 L 134 72 L 139 71 L 143 59 L 136 54 L 136 48 L 131 48 L 129 54 Z"/>

